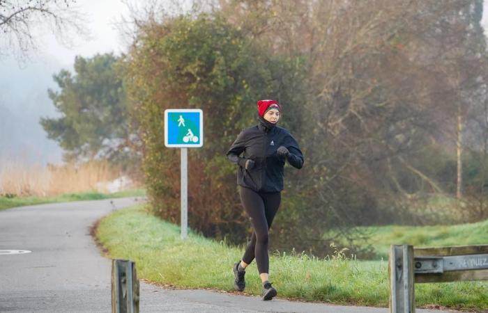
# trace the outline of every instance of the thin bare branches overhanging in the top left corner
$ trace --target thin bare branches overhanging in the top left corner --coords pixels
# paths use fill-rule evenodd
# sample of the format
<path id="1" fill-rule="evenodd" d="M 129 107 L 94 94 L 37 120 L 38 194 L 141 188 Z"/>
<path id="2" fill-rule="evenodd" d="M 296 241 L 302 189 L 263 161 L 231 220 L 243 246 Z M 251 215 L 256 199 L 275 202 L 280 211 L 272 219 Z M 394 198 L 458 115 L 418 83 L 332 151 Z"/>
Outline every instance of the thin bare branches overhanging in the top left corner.
<path id="1" fill-rule="evenodd" d="M 63 45 L 69 33 L 88 36 L 76 0 L 0 0 L 0 57 L 14 55 L 25 61 L 38 49 L 36 35 L 47 28 Z"/>

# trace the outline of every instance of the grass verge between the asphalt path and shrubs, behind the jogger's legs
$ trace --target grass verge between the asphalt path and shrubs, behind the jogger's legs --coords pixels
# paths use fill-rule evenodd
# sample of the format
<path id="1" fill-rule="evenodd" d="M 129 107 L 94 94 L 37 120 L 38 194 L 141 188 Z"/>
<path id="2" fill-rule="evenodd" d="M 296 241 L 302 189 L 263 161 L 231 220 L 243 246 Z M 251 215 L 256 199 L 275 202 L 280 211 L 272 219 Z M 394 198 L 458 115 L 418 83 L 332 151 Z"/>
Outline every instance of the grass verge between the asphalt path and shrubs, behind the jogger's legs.
<path id="1" fill-rule="evenodd" d="M 233 291 L 231 266 L 243 248 L 228 246 L 190 232 L 181 240 L 176 225 L 148 214 L 144 205 L 116 211 L 102 219 L 97 233 L 114 259 L 136 262 L 139 278 L 181 288 Z M 280 297 L 327 303 L 388 306 L 386 261 L 328 259 L 308 255 L 270 256 L 270 280 Z M 261 284 L 255 262 L 247 269 L 246 293 L 257 295 Z M 487 282 L 417 284 L 418 306 L 443 305 L 458 310 L 487 310 Z"/>

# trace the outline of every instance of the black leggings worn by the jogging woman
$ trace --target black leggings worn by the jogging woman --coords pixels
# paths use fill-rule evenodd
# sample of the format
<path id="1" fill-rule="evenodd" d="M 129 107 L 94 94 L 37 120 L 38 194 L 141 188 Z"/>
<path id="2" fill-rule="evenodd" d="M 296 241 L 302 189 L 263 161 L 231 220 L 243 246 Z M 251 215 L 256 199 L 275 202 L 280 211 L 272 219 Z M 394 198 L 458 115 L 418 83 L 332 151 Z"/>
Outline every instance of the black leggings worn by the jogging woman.
<path id="1" fill-rule="evenodd" d="M 280 207 L 281 193 L 257 193 L 241 186 L 241 202 L 254 227 L 251 242 L 244 252 L 243 262 L 251 264 L 256 257 L 259 274 L 268 273 L 268 230 Z"/>

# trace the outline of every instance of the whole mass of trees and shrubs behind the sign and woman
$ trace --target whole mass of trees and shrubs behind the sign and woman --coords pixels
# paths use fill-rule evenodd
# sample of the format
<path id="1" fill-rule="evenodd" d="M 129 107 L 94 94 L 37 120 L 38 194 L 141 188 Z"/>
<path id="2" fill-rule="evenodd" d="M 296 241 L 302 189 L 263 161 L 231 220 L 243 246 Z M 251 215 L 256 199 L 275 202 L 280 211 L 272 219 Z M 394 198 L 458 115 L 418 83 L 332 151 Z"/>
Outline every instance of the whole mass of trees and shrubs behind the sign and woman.
<path id="1" fill-rule="evenodd" d="M 189 153 L 190 227 L 243 243 L 251 228 L 225 152 L 257 122 L 257 100 L 277 99 L 305 166 L 285 170 L 272 249 L 324 255 L 337 236 L 368 236 L 355 226 L 488 217 L 481 0 L 193 4 L 134 12 L 126 54 L 80 58 L 76 75 L 55 76 L 61 92 L 51 97 L 65 117 L 43 127 L 67 155 L 140 168 L 153 214 L 178 223 L 179 151 L 164 146 L 164 111 L 202 109 L 205 145 Z M 107 74 L 91 73 L 97 66 Z M 125 154 L 108 153 L 114 142 Z"/>

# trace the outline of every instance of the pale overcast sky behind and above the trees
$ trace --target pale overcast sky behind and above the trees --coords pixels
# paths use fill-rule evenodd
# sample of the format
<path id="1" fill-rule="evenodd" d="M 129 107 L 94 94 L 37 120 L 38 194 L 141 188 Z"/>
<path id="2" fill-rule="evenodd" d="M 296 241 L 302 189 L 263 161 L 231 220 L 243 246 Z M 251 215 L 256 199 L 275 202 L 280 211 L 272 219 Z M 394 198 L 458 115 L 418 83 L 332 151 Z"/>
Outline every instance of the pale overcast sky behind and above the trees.
<path id="1" fill-rule="evenodd" d="M 132 3 L 142 6 L 144 0 L 133 0 Z M 160 0 L 165 5 L 174 0 Z M 187 0 L 181 1 L 188 2 Z M 482 25 L 488 29 L 488 0 L 484 2 L 484 14 Z M 0 160 L 5 154 L 17 157 L 22 149 L 23 154 L 33 154 L 32 158 L 41 163 L 59 163 L 61 161 L 61 149 L 52 141 L 45 138 L 45 132 L 38 125 L 38 119 L 42 116 L 55 116 L 54 106 L 47 97 L 48 88 L 56 88 L 52 80 L 52 74 L 59 72 L 62 68 L 72 70 L 75 56 L 91 57 L 95 54 L 103 54 L 113 51 L 120 54 L 126 49 L 126 42 L 116 29 L 116 22 L 122 16 L 128 16 L 128 8 L 121 0 L 78 0 L 79 10 L 86 15 L 86 29 L 91 33 L 91 39 L 73 38 L 73 47 L 68 49 L 56 41 L 54 35 L 45 31 L 38 36 L 39 49 L 31 57 L 31 61 L 20 67 L 14 58 L 0 59 L 0 109 L 6 107 L 10 112 L 10 122 L 15 116 L 20 120 L 17 125 L 21 127 L 8 128 L 10 131 L 17 131 L 24 135 L 5 134 L 6 126 L 1 128 L 4 134 L 0 134 Z M 487 31 L 485 31 L 485 34 Z M 8 75 L 6 75 L 8 73 Z M 29 85 L 29 88 L 26 88 Z M 6 120 L 5 111 L 0 115 L 0 124 Z M 0 110 L 0 114 L 2 111 Z M 28 115 L 28 116 L 27 116 Z M 5 124 L 5 122 L 3 122 Z M 31 132 L 29 132 L 31 131 Z M 20 138 L 14 145 L 3 138 Z M 19 137 L 20 136 L 20 137 Z M 23 138 L 23 137 L 31 138 Z M 22 139 L 23 138 L 23 139 Z M 35 138 L 35 139 L 34 139 Z M 20 141 L 24 141 L 19 143 Z M 40 157 L 39 157 L 40 156 Z"/>

